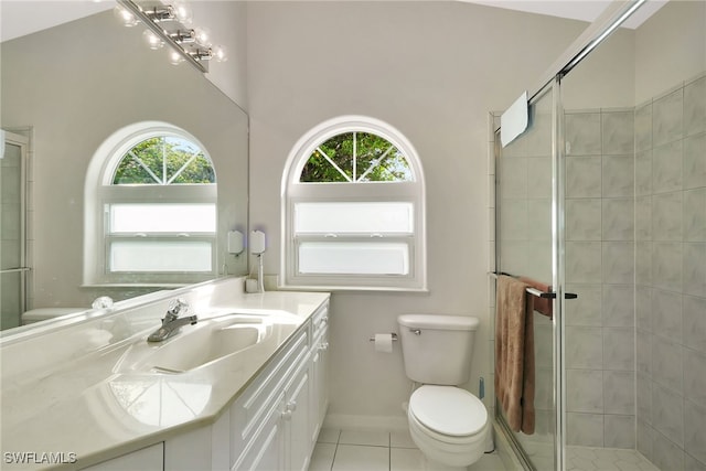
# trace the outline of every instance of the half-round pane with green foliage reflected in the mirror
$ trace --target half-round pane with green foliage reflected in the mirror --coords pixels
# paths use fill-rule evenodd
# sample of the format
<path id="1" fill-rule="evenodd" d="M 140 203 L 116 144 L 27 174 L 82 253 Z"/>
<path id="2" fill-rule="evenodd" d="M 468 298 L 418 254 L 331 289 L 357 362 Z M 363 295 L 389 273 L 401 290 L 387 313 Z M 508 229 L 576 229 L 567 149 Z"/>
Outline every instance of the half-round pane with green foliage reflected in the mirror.
<path id="1" fill-rule="evenodd" d="M 215 181 L 213 165 L 197 146 L 182 138 L 156 137 L 126 152 L 111 183 L 168 185 Z"/>

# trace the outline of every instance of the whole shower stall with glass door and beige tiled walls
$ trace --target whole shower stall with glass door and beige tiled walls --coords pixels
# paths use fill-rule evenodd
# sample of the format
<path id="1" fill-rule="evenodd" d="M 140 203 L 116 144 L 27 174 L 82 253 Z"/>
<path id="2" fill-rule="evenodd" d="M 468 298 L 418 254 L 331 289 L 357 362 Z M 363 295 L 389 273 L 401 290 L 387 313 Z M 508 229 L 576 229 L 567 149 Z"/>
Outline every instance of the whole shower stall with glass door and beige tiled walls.
<path id="1" fill-rule="evenodd" d="M 589 26 L 504 147 L 494 117 L 491 272 L 552 287 L 534 432 L 495 405 L 526 469 L 706 469 L 706 2 L 618 28 L 640 8 Z"/>

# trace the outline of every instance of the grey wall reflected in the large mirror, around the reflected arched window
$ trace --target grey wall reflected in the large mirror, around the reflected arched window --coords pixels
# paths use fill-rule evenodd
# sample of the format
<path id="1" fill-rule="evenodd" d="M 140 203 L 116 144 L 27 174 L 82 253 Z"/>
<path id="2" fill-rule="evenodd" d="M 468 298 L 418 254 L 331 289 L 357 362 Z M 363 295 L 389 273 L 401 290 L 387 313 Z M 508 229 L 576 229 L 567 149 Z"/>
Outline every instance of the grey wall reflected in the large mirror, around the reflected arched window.
<path id="1" fill-rule="evenodd" d="M 118 301 L 174 288 L 130 282 L 92 286 L 84 278 L 84 260 L 90 257 L 89 250 L 84 255 L 89 163 L 106 139 L 137 122 L 168 122 L 203 144 L 215 169 L 218 200 L 215 269 L 210 277 L 247 272 L 247 255 L 226 251 L 228 231 L 247 233 L 248 116 L 236 103 L 195 68 L 173 66 L 165 51 L 149 50 L 142 29 L 120 25 L 111 9 L 4 41 L 1 47 L 0 126 L 29 138 L 23 239 L 30 268 L 2 274 L 1 328 L 20 323 L 22 309 L 12 299 L 23 276 L 26 309 L 85 310 L 101 296 Z M 0 163 L 4 192 L 12 186 L 6 183 L 14 170 L 8 170 L 9 159 Z M 23 245 L 17 239 L 19 218 L 6 217 L 4 203 L 11 201 L 2 200 L 3 270 L 13 268 L 10 254 Z"/>

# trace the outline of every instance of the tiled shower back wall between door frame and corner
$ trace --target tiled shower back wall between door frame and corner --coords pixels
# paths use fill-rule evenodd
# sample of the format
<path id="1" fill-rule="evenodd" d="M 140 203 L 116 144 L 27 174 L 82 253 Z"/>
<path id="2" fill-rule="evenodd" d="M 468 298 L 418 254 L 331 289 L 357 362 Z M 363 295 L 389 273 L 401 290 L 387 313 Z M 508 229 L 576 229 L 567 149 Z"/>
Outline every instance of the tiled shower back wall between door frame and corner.
<path id="1" fill-rule="evenodd" d="M 566 111 L 567 443 L 634 448 L 633 109 Z"/>

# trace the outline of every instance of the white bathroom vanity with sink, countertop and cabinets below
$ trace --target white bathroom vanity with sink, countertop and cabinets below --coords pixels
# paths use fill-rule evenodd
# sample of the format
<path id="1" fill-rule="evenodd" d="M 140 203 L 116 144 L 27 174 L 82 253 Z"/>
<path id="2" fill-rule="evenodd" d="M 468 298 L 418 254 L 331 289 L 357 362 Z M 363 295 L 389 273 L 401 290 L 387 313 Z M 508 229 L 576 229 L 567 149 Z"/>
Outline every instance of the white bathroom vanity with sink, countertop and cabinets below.
<path id="1" fill-rule="evenodd" d="M 306 470 L 328 406 L 329 295 L 242 285 L 0 339 L 2 469 Z M 199 322 L 148 343 L 176 297 Z"/>

